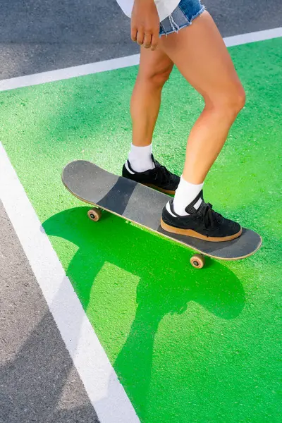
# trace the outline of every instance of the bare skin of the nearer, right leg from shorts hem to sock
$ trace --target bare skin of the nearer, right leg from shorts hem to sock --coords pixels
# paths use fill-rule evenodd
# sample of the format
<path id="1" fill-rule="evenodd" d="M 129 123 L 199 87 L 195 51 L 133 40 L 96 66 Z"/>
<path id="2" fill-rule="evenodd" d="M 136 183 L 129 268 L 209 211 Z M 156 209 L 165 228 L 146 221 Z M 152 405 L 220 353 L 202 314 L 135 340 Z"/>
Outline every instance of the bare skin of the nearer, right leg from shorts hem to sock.
<path id="1" fill-rule="evenodd" d="M 183 171 L 186 181 L 201 184 L 245 104 L 245 92 L 207 11 L 178 33 L 161 37 L 160 47 L 204 97 L 204 110 L 188 138 Z"/>

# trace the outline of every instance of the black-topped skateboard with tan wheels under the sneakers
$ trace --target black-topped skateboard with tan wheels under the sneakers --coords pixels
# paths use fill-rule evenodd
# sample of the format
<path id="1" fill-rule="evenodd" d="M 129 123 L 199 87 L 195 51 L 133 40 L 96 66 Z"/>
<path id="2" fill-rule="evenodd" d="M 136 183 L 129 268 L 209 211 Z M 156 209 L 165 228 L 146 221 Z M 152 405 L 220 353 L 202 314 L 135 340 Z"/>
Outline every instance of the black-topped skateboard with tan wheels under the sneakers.
<path id="1" fill-rule="evenodd" d="M 94 206 L 88 212 L 92 221 L 99 221 L 102 210 L 106 210 L 170 238 L 199 253 L 190 258 L 190 264 L 197 269 L 204 266 L 205 256 L 221 260 L 244 259 L 255 254 L 262 244 L 259 234 L 247 228 L 243 228 L 242 235 L 235 240 L 215 243 L 168 233 L 161 228 L 160 219 L 162 209 L 171 197 L 123 176 L 116 176 L 90 161 L 71 161 L 63 169 L 61 178 L 71 194 Z"/>

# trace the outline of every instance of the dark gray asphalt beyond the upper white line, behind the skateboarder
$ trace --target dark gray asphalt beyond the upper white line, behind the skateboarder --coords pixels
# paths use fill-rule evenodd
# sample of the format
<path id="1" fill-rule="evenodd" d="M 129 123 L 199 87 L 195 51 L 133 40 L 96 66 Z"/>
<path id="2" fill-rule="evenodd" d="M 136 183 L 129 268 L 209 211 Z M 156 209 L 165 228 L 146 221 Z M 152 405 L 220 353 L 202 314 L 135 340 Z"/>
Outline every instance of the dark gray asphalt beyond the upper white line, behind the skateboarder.
<path id="1" fill-rule="evenodd" d="M 280 27 L 274 0 L 203 0 L 226 37 Z M 116 0 L 1 0 L 0 79 L 135 54 Z"/>

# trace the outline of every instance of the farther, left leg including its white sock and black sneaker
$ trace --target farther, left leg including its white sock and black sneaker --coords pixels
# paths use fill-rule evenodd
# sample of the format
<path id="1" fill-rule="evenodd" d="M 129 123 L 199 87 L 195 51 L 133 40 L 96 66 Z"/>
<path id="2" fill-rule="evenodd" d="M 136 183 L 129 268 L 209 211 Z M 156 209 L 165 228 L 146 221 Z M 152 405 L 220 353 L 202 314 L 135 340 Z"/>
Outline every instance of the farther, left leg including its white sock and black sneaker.
<path id="1" fill-rule="evenodd" d="M 159 114 L 161 90 L 173 68 L 173 62 L 160 49 L 141 48 L 140 67 L 133 90 L 130 111 L 133 142 L 123 176 L 136 182 L 174 194 L 179 176 L 173 175 L 152 156 L 152 136 Z"/>

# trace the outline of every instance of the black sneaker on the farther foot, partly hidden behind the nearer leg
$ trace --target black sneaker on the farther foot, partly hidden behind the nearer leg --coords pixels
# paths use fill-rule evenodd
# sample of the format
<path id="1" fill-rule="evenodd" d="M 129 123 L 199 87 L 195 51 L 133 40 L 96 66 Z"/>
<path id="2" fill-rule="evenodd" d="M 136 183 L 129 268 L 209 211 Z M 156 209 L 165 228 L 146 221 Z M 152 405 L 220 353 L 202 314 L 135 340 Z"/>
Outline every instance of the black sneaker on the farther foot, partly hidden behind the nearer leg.
<path id="1" fill-rule="evenodd" d="M 145 172 L 135 172 L 130 166 L 129 161 L 123 165 L 123 176 L 128 179 L 135 180 L 136 182 L 147 185 L 166 194 L 174 194 L 178 187 L 180 178 L 167 170 L 166 167 L 161 166 L 157 160 L 154 159 L 154 169 Z"/>

